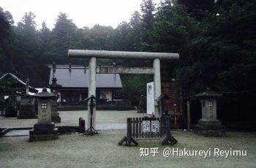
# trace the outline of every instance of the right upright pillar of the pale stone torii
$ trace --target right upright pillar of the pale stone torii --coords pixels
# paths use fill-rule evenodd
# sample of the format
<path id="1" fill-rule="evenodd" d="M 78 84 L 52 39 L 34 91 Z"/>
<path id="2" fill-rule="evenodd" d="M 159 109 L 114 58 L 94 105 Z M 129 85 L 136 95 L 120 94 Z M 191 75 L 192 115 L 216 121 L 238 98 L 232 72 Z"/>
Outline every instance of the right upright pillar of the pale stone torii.
<path id="1" fill-rule="evenodd" d="M 161 95 L 161 74 L 160 74 L 160 60 L 159 58 L 154 59 L 154 115 L 159 118 L 162 116 L 159 109 L 157 108 L 157 97 Z"/>

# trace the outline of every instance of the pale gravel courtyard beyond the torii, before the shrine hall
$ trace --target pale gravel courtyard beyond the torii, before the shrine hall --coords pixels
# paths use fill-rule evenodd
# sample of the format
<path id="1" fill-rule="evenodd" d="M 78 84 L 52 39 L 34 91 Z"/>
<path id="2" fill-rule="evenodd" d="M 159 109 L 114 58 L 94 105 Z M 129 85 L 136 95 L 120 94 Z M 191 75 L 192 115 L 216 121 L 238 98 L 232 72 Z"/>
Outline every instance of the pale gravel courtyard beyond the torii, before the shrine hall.
<path id="1" fill-rule="evenodd" d="M 78 118 L 87 121 L 87 110 L 59 112 L 61 123 L 56 126 L 78 126 Z M 124 129 L 126 118 L 143 117 L 143 114 L 131 111 L 97 111 L 96 129 Z M 33 127 L 37 119 L 0 118 L 0 128 L 26 128 Z"/>

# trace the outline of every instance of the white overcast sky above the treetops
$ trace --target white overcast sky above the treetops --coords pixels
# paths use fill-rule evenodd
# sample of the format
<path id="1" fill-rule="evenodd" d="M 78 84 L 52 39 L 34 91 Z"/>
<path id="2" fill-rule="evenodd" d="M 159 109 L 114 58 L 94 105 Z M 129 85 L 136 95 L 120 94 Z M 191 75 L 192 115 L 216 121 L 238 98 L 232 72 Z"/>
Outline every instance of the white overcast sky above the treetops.
<path id="1" fill-rule="evenodd" d="M 160 0 L 154 0 L 159 4 Z M 59 12 L 67 13 L 78 28 L 95 24 L 116 28 L 121 21 L 129 21 L 135 10 L 140 11 L 142 0 L 1 0 L 0 7 L 11 12 L 15 23 L 25 12 L 36 15 L 37 27 L 45 20 L 53 28 Z"/>

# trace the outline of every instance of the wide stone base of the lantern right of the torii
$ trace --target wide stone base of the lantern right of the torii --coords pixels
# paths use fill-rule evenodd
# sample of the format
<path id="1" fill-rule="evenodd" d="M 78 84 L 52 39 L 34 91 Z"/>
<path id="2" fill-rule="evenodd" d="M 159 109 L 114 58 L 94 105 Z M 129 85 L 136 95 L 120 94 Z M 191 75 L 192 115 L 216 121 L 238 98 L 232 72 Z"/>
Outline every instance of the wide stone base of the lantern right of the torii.
<path id="1" fill-rule="evenodd" d="M 199 120 L 195 126 L 195 134 L 207 137 L 225 137 L 225 126 L 221 125 L 219 120 Z"/>

